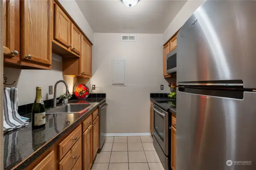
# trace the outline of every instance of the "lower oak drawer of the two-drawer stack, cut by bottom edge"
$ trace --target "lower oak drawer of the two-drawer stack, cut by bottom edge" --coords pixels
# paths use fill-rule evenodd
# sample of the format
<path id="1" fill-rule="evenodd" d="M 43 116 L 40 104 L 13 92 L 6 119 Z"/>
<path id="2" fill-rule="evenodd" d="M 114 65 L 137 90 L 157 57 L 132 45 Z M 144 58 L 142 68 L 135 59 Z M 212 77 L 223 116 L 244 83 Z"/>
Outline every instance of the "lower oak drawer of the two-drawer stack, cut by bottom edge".
<path id="1" fill-rule="evenodd" d="M 68 151 L 64 158 L 60 161 L 60 170 L 71 170 L 76 161 L 81 156 L 82 143 L 81 138 L 74 144 L 74 146 Z"/>

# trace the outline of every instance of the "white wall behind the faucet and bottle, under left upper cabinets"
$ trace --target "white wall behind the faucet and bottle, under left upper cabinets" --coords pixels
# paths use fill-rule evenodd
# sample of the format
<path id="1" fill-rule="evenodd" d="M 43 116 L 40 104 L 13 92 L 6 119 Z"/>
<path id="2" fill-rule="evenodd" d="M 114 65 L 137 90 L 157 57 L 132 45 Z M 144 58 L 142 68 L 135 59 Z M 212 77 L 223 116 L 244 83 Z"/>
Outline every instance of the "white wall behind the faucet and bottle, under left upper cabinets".
<path id="1" fill-rule="evenodd" d="M 62 76 L 62 57 L 52 53 L 52 70 L 34 70 L 34 69 L 13 69 L 4 67 L 4 76 L 7 77 L 7 83 L 16 81 L 13 85 L 4 85 L 4 87 L 18 88 L 18 105 L 34 103 L 36 97 L 36 87 L 42 87 L 42 99 L 53 98 L 48 95 L 50 85 L 54 86 L 56 81 L 63 80 Z M 69 91 L 72 93 L 74 77 L 66 76 Z M 65 93 L 66 88 L 63 83 L 57 86 L 57 97 Z"/>

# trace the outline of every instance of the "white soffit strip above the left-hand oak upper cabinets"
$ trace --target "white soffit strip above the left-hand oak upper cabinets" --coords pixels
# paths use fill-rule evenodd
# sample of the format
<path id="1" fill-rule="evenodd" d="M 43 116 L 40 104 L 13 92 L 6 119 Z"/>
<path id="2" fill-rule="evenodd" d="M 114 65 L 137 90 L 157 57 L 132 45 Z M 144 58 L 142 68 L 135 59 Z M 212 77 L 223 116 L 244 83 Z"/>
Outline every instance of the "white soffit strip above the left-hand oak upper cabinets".
<path id="1" fill-rule="evenodd" d="M 81 28 L 84 34 L 93 43 L 93 30 L 85 19 L 82 11 L 75 0 L 59 0 L 60 4 L 65 8 L 68 14 L 73 18 L 76 24 Z"/>

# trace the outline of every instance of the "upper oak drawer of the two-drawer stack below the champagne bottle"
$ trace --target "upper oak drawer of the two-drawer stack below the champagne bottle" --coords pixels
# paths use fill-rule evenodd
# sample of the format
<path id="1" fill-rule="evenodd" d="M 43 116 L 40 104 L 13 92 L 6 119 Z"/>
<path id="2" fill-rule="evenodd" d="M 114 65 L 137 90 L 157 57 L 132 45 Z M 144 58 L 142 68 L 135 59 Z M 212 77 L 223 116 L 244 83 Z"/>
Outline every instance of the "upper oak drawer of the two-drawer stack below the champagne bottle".
<path id="1" fill-rule="evenodd" d="M 73 146 L 76 141 L 82 135 L 81 125 L 77 127 L 68 137 L 66 137 L 59 145 L 59 160 L 68 152 L 68 150 Z"/>

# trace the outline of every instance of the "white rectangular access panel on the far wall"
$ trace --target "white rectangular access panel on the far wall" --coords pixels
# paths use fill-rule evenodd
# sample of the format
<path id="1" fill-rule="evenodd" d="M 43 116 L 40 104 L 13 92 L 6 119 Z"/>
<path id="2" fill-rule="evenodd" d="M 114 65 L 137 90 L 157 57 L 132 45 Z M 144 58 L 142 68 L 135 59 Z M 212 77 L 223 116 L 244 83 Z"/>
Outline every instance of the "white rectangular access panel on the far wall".
<path id="1" fill-rule="evenodd" d="M 112 85 L 124 85 L 124 60 L 112 60 Z"/>

